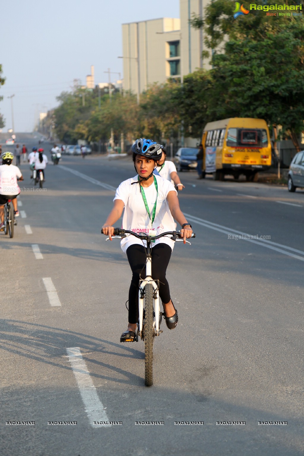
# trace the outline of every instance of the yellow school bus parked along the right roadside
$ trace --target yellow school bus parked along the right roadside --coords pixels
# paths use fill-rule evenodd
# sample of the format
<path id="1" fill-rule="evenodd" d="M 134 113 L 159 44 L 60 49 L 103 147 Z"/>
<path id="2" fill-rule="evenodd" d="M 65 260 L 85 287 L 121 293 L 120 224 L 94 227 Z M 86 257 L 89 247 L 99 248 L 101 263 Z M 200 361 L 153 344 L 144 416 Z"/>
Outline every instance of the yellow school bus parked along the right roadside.
<path id="1" fill-rule="evenodd" d="M 203 177 L 213 174 L 215 180 L 225 175 L 256 181 L 258 171 L 271 166 L 271 143 L 268 126 L 263 119 L 238 118 L 206 124 L 203 136 Z"/>

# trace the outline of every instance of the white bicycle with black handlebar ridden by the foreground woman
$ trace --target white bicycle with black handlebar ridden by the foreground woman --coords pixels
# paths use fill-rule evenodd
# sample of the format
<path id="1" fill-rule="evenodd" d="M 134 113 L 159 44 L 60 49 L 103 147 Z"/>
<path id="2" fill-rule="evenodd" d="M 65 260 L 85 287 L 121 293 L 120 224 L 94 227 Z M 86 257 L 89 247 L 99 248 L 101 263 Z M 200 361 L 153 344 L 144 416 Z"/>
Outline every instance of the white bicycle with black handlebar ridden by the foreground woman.
<path id="1" fill-rule="evenodd" d="M 123 228 L 114 228 L 113 238 L 125 238 L 126 234 L 131 234 L 142 241 L 147 241 L 146 253 L 146 277 L 139 279 L 139 322 L 137 323 L 136 338 L 120 339 L 120 342 L 138 342 L 138 337 L 144 341 L 144 383 L 146 386 L 153 385 L 153 342 L 154 338 L 160 336 L 160 323 L 165 313 L 160 311 L 159 301 L 159 280 L 152 279 L 152 243 L 163 236 L 171 236 L 173 241 L 183 241 L 179 238 L 179 231 L 167 231 L 157 236 L 146 233 L 134 233 Z M 191 238 L 195 238 L 192 233 Z M 107 241 L 109 238 L 106 239 Z M 185 241 L 187 244 L 191 243 Z M 154 306 L 153 306 L 154 301 Z M 158 316 L 158 318 L 156 317 Z"/>

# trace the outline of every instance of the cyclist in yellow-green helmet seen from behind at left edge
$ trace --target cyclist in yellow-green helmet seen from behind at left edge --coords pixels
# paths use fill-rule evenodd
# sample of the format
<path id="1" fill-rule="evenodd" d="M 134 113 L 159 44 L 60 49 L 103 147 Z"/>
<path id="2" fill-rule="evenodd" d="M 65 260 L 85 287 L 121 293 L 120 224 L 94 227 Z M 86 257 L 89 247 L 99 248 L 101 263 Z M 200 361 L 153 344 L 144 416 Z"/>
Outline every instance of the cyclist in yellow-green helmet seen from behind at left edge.
<path id="1" fill-rule="evenodd" d="M 16 197 L 20 193 L 17 179 L 23 181 L 22 173 L 18 166 L 12 165 L 14 155 L 11 152 L 1 154 L 0 166 L 0 231 L 4 230 L 4 205 L 7 200 L 12 200 L 15 217 L 19 216 Z"/>

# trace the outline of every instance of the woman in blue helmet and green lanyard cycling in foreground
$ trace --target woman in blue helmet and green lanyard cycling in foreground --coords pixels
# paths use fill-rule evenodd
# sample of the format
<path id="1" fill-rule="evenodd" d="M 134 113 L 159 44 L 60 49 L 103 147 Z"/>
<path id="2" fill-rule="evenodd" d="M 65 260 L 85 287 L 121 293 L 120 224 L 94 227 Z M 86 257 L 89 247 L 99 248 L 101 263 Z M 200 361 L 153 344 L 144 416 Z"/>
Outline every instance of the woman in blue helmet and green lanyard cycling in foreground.
<path id="1" fill-rule="evenodd" d="M 170 181 L 153 174 L 162 154 L 161 146 L 152 140 L 139 139 L 134 142 L 131 151 L 137 175 L 123 181 L 116 190 L 114 207 L 103 224 L 103 234 L 107 234 L 112 240 L 113 225 L 124 211 L 122 228 L 155 235 L 174 231 L 175 218 L 182 227 L 180 232 L 185 242 L 186 238 L 191 237 L 192 229 L 180 210 L 177 192 Z M 121 336 L 124 339 L 136 337 L 136 324 L 139 320 L 139 276 L 144 277 L 146 262 L 143 243 L 146 245 L 145 241 L 132 235 L 121 241 L 121 248 L 127 254 L 133 273 L 129 288 L 128 330 Z M 171 301 L 169 284 L 165 277 L 173 247 L 174 241 L 170 237 L 157 239 L 152 247 L 152 277 L 160 281 L 159 295 L 169 329 L 174 329 L 178 322 L 177 310 Z"/>

